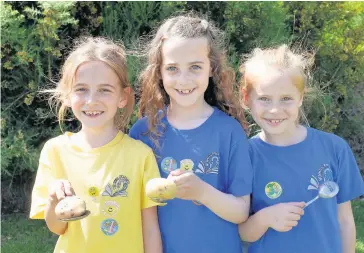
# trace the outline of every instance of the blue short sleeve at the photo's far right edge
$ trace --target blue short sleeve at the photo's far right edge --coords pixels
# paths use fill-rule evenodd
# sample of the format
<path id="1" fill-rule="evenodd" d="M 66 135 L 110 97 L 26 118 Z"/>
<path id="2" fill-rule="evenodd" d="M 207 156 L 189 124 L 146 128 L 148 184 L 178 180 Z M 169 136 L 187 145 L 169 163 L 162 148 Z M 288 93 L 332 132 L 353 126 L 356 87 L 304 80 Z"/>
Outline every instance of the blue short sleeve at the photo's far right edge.
<path id="1" fill-rule="evenodd" d="M 339 164 L 337 183 L 340 188 L 337 202 L 341 204 L 363 195 L 364 183 L 354 154 L 345 141 L 341 145 L 337 158 Z"/>

